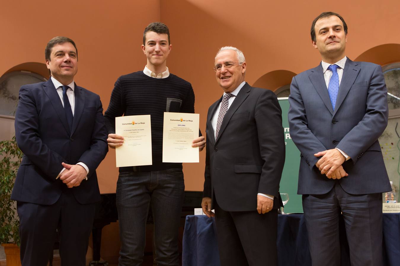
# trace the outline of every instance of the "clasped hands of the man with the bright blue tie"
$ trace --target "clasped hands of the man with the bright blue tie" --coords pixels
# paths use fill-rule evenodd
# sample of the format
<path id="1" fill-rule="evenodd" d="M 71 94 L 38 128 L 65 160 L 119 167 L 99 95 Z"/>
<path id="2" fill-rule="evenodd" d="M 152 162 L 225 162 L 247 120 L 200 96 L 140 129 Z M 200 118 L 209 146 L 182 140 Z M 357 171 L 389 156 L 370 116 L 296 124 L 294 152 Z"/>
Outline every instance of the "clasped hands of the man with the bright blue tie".
<path id="1" fill-rule="evenodd" d="M 348 176 L 348 173 L 344 171 L 342 166 L 346 158 L 337 149 L 318 152 L 314 154 L 314 156 L 322 156 L 315 165 L 321 171 L 321 174 L 326 175 L 326 177 L 332 179 L 340 179 L 342 177 Z"/>

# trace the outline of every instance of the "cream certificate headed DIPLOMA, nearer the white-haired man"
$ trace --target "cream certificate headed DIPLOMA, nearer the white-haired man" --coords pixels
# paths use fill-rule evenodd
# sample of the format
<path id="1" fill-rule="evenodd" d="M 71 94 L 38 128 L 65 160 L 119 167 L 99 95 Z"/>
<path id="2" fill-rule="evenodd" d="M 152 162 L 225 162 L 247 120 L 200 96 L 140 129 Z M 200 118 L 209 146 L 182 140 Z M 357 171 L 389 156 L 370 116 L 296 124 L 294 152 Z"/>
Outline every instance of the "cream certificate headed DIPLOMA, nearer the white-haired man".
<path id="1" fill-rule="evenodd" d="M 199 117 L 199 114 L 164 112 L 162 162 L 199 162 L 199 148 L 192 147 L 192 141 L 199 136 Z"/>

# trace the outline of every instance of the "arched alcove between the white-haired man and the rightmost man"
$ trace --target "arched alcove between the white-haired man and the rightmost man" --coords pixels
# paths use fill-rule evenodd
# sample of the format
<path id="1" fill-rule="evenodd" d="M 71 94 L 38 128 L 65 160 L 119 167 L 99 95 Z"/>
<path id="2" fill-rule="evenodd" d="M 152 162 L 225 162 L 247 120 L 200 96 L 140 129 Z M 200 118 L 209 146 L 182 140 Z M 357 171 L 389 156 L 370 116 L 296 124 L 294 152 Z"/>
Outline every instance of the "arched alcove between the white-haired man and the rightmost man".
<path id="1" fill-rule="evenodd" d="M 296 76 L 296 73 L 288 70 L 274 70 L 262 75 L 256 82 L 254 82 L 253 87 L 266 88 L 280 93 L 281 88 L 290 85 L 292 78 Z"/>

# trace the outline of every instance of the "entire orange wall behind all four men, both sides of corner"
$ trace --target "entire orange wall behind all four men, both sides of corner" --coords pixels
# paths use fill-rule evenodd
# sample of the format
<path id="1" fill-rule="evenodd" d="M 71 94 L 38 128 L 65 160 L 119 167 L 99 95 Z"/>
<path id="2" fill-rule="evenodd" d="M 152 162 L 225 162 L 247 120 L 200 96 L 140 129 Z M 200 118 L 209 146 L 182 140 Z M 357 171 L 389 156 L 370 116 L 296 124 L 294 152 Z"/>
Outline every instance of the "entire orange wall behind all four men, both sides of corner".
<path id="1" fill-rule="evenodd" d="M 161 21 L 171 32 L 172 51 L 167 65 L 172 73 L 192 83 L 202 132 L 208 106 L 222 95 L 212 70 L 215 53 L 221 46 L 236 46 L 244 52 L 246 81 L 250 85 L 257 81 L 258 86 L 264 84 L 274 90 L 288 83 L 291 73 L 319 63 L 319 53 L 311 46 L 310 24 L 321 12 L 334 11 L 348 24 L 346 55 L 350 59 L 359 57 L 382 65 L 400 61 L 400 2 L 396 0 L 57 3 L 2 1 L 0 76 L 22 63 L 44 63 L 47 41 L 65 35 L 78 46 L 76 83 L 98 93 L 106 109 L 116 79 L 141 70 L 146 64 L 140 49 L 144 28 L 150 22 Z M 36 71 L 46 73 L 44 65 L 41 67 Z M 115 192 L 118 171 L 114 154 L 111 150 L 98 169 L 102 193 Z M 204 156 L 203 151 L 199 164 L 184 164 L 186 190 L 202 190 Z M 102 256 L 109 260 L 118 256 L 116 231 L 117 224 L 103 231 Z"/>

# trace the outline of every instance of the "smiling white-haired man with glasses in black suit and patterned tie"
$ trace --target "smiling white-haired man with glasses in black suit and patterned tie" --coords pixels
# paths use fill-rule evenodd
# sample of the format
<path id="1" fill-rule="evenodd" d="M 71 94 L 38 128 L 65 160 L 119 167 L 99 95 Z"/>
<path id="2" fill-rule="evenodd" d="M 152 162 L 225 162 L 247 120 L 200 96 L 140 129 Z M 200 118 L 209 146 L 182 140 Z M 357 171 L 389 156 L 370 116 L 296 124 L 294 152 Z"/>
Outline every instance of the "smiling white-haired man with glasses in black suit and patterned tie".
<path id="1" fill-rule="evenodd" d="M 240 50 L 222 47 L 214 70 L 224 94 L 207 114 L 202 209 L 215 209 L 222 266 L 277 265 L 282 112 L 272 91 L 244 81 Z"/>

